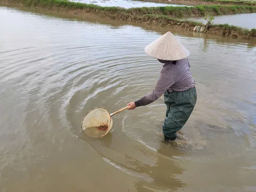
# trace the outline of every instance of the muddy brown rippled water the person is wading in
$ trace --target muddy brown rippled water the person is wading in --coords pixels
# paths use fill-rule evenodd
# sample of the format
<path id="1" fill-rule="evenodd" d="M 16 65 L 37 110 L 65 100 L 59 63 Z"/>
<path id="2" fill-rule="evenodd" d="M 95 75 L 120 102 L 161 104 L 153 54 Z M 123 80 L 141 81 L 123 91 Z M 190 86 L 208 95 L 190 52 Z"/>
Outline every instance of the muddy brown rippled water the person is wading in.
<path id="1" fill-rule="evenodd" d="M 153 90 L 162 66 L 144 47 L 166 29 L 6 7 L 0 23 L 1 192 L 256 190 L 255 42 L 173 31 L 198 93 L 179 139 L 163 141 L 163 98 L 90 139 L 87 111 Z"/>

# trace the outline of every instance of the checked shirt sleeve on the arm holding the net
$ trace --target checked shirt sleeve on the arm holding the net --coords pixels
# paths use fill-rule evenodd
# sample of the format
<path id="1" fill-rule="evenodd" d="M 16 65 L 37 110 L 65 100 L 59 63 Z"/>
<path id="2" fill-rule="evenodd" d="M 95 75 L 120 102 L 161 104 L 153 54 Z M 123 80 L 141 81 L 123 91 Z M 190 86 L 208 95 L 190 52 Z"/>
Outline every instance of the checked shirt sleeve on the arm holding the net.
<path id="1" fill-rule="evenodd" d="M 167 91 L 174 83 L 174 77 L 170 73 L 171 65 L 163 68 L 160 77 L 156 83 L 155 89 L 146 94 L 140 100 L 135 101 L 135 106 L 145 106 L 156 101 L 165 91 Z"/>

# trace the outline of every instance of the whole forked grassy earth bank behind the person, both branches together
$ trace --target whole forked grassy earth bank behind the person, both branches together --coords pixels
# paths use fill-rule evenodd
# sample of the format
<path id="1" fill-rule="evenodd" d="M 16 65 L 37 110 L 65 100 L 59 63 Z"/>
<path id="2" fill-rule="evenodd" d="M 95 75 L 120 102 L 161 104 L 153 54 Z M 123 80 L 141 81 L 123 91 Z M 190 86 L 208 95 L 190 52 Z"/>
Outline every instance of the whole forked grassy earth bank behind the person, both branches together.
<path id="1" fill-rule="evenodd" d="M 195 26 L 203 26 L 202 23 L 195 21 L 181 21 L 171 17 L 188 17 L 191 15 L 204 15 L 210 11 L 215 14 L 227 13 L 233 10 L 233 6 L 197 6 L 197 7 L 143 7 L 122 9 L 119 7 L 101 7 L 82 3 L 57 0 L 0 0 L 4 5 L 19 5 L 28 7 L 39 7 L 40 9 L 54 10 L 70 14 L 80 14 L 84 17 L 109 18 L 113 20 L 123 20 L 135 23 L 146 23 L 147 25 L 166 27 L 168 29 L 180 28 L 193 31 Z M 234 6 L 239 11 L 255 12 L 256 7 Z M 231 9 L 230 9 L 231 8 Z M 234 10 L 233 10 L 234 11 Z M 213 25 L 207 29 L 206 33 L 213 35 L 229 36 L 234 38 L 256 38 L 256 29 L 243 29 L 229 25 Z"/>

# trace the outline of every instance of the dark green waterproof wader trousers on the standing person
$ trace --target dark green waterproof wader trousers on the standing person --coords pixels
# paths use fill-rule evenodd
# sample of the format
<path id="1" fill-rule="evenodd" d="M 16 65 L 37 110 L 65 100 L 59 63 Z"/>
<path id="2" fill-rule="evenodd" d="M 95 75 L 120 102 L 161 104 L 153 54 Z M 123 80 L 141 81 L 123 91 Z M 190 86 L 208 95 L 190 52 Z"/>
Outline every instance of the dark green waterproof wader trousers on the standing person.
<path id="1" fill-rule="evenodd" d="M 188 121 L 197 100 L 196 88 L 186 91 L 164 93 L 164 103 L 167 106 L 163 133 L 167 138 L 176 137 L 176 132 Z"/>

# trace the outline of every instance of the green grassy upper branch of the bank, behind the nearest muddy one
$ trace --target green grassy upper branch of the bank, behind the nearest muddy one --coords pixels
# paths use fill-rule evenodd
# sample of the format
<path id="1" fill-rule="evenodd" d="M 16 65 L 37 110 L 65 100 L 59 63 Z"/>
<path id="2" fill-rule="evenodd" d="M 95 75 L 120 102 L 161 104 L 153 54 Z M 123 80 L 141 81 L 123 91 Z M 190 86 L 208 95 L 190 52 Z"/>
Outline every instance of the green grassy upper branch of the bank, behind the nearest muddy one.
<path id="1" fill-rule="evenodd" d="M 3 0 L 1 0 L 3 1 Z M 200 5 L 194 7 L 186 6 L 165 6 L 165 7 L 141 7 L 122 9 L 119 7 L 102 7 L 92 4 L 74 3 L 61 0 L 4 0 L 7 2 L 18 2 L 25 6 L 39 6 L 49 9 L 65 8 L 69 10 L 84 10 L 86 12 L 108 12 L 113 14 L 129 14 L 129 15 L 169 15 L 173 18 L 182 17 L 202 17 L 206 12 L 212 15 L 222 14 L 237 14 L 237 13 L 255 13 L 256 6 L 242 6 L 242 5 Z"/>

